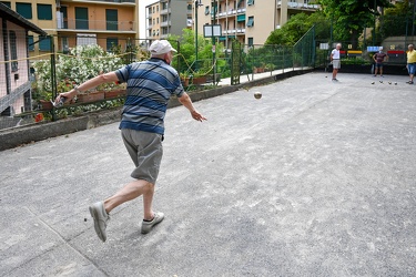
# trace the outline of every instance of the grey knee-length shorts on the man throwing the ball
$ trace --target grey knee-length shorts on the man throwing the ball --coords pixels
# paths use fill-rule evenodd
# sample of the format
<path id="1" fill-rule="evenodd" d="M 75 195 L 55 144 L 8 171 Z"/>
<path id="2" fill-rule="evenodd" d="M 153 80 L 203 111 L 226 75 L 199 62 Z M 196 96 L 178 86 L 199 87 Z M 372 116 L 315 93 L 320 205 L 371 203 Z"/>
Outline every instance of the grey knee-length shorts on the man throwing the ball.
<path id="1" fill-rule="evenodd" d="M 156 184 L 163 156 L 163 135 L 122 129 L 121 136 L 135 165 L 131 176 Z"/>

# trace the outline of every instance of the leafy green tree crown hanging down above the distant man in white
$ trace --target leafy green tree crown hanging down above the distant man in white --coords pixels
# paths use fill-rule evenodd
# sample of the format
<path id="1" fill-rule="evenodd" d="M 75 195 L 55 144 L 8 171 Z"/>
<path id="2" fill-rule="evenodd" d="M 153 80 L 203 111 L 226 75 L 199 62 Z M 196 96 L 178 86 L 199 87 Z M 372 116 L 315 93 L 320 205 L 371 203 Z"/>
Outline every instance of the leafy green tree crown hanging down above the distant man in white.
<path id="1" fill-rule="evenodd" d="M 334 39 L 358 45 L 364 28 L 374 27 L 377 7 L 392 7 L 388 0 L 317 0 L 334 24 Z"/>

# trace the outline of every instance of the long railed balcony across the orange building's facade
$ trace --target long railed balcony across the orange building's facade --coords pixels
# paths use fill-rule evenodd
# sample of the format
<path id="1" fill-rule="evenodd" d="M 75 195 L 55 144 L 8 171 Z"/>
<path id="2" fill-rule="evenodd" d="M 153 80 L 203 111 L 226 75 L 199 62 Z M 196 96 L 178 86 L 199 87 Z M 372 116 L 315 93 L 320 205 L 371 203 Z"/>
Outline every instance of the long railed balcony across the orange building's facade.
<path id="1" fill-rule="evenodd" d="M 135 32 L 134 21 L 105 21 L 105 20 L 59 20 L 60 31 L 102 31 L 102 32 Z"/>

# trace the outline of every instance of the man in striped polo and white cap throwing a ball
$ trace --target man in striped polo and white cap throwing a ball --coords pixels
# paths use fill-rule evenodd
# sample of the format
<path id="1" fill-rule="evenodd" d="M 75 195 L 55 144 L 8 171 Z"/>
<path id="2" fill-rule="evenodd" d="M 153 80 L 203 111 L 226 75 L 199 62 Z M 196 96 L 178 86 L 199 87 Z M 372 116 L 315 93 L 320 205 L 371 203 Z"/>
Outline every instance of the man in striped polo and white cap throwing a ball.
<path id="1" fill-rule="evenodd" d="M 113 196 L 92 204 L 90 214 L 94 219 L 95 233 L 102 242 L 106 239 L 106 223 L 110 212 L 116 206 L 143 195 L 143 222 L 141 233 L 149 233 L 163 220 L 163 213 L 152 208 L 154 186 L 163 154 L 164 116 L 171 95 L 190 111 L 196 121 L 206 120 L 192 104 L 184 92 L 177 72 L 170 65 L 175 49 L 166 40 L 156 40 L 150 48 L 151 59 L 125 65 L 114 72 L 92 78 L 73 90 L 58 95 L 65 101 L 77 93 L 93 89 L 102 83 L 125 82 L 128 92 L 123 106 L 120 130 L 124 145 L 135 164 L 134 178 Z"/>

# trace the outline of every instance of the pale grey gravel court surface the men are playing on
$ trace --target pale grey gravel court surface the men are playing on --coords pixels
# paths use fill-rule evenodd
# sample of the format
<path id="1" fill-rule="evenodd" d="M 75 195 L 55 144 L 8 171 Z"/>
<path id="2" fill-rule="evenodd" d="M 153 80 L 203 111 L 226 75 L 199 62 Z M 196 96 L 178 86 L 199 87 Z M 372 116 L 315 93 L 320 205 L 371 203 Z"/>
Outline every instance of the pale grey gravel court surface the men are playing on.
<path id="1" fill-rule="evenodd" d="M 415 276 L 416 86 L 338 79 L 170 109 L 148 235 L 141 198 L 105 244 L 88 212 L 130 181 L 116 123 L 0 152 L 0 276 Z"/>

